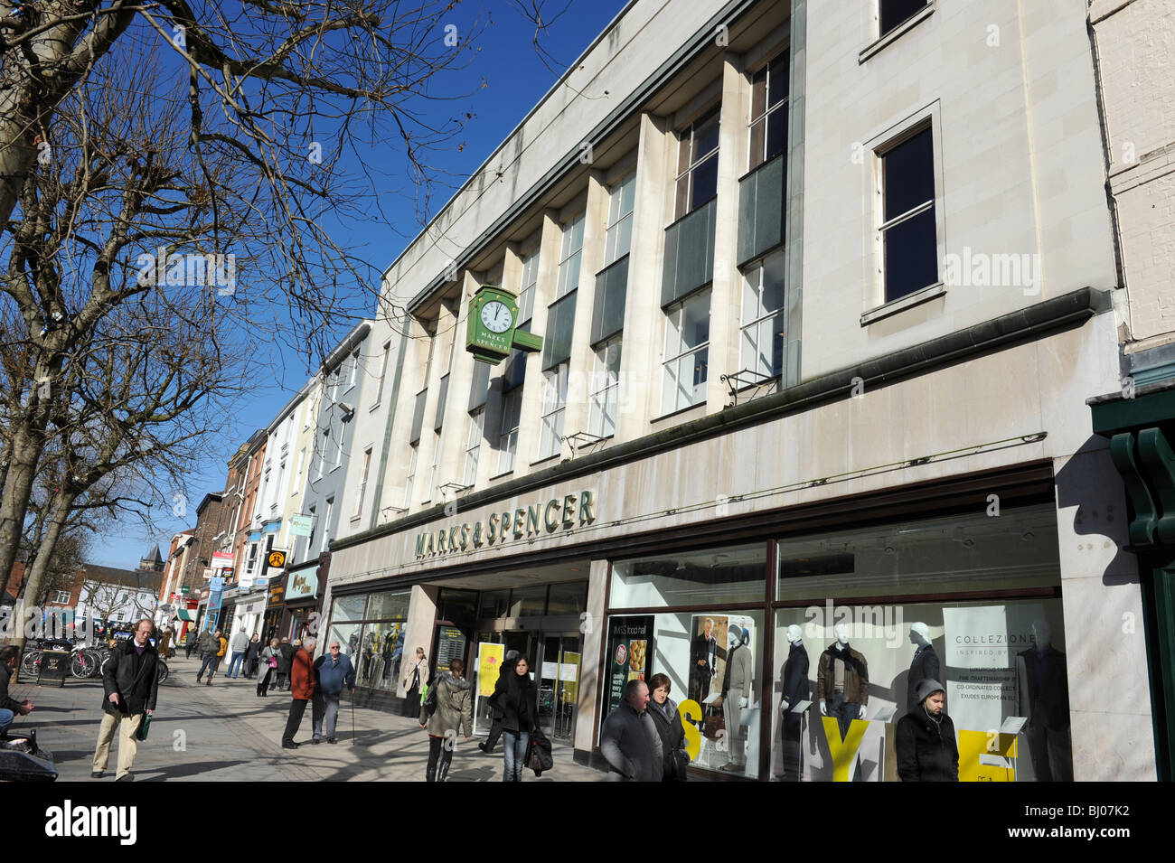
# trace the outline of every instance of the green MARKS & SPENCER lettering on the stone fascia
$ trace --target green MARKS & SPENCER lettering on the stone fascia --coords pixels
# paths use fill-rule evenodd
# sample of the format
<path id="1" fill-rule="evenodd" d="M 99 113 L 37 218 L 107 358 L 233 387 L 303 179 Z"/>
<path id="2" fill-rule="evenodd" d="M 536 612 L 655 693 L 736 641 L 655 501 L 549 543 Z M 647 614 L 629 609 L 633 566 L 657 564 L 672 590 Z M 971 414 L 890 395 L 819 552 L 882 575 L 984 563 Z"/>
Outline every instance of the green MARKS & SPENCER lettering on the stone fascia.
<path id="1" fill-rule="evenodd" d="M 416 534 L 416 557 L 431 558 L 450 552 L 481 548 L 483 545 L 549 535 L 596 520 L 596 493 L 582 491 L 532 506 L 490 513 L 488 519 L 462 522 Z"/>

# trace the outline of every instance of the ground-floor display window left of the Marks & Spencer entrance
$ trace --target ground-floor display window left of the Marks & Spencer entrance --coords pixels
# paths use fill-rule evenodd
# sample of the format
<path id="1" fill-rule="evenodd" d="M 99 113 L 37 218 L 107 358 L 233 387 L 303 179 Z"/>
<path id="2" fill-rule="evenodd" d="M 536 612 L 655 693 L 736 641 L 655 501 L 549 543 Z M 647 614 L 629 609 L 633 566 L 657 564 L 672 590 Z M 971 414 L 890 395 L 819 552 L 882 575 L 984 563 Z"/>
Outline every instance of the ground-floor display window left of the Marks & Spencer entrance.
<path id="1" fill-rule="evenodd" d="M 335 639 L 355 666 L 356 686 L 396 690 L 411 591 L 337 596 L 328 643 Z"/>

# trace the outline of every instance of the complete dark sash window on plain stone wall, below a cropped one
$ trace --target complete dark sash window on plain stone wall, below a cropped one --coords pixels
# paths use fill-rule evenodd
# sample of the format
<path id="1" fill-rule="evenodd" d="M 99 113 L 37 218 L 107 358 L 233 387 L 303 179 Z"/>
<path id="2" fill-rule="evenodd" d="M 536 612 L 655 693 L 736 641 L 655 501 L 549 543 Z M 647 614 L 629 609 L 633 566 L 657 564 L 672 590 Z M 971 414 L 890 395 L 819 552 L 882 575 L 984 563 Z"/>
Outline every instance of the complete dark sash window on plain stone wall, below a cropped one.
<path id="1" fill-rule="evenodd" d="M 934 216 L 934 134 L 924 126 L 877 151 L 885 302 L 939 281 Z"/>

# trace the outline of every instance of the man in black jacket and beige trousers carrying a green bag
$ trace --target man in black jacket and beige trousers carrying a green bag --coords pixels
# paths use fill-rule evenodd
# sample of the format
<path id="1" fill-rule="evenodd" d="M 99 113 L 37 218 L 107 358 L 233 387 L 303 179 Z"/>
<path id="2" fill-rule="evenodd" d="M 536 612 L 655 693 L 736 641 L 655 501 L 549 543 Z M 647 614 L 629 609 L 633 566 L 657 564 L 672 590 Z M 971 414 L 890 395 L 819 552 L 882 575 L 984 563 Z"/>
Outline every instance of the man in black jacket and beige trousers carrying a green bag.
<path id="1" fill-rule="evenodd" d="M 136 735 L 146 716 L 155 712 L 155 695 L 159 689 L 159 652 L 152 647 L 148 636 L 153 623 L 143 618 L 135 627 L 134 635 L 120 641 L 110 654 L 102 672 L 102 726 L 98 731 L 98 747 L 90 776 L 102 778 L 110 759 L 110 743 L 119 733 L 118 782 L 134 778 L 130 768 L 139 750 Z"/>

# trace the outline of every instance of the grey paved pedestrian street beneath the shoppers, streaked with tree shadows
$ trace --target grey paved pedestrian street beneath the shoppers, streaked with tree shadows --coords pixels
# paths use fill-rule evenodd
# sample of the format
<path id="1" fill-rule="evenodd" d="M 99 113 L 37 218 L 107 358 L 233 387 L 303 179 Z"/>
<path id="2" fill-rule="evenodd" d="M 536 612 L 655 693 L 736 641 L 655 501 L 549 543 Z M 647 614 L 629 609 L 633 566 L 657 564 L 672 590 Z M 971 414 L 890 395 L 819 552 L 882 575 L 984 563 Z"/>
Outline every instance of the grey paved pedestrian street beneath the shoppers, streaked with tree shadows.
<path id="1" fill-rule="evenodd" d="M 354 708 L 355 742 L 351 742 L 351 706 L 344 700 L 338 712 L 337 744 L 310 744 L 310 709 L 296 737 L 298 749 L 282 749 L 281 735 L 289 714 L 288 693 L 270 690 L 256 696 L 256 681 L 226 681 L 217 675 L 213 686 L 196 685 L 199 661 L 182 655 L 168 661 L 170 676 L 160 686 L 159 703 L 150 733 L 139 744 L 136 781 L 391 781 L 423 782 L 428 761 L 428 735 L 414 720 L 370 708 Z M 66 681 L 63 688 L 14 683 L 12 696 L 33 700 L 35 709 L 18 717 L 12 730 L 35 728 L 38 742 L 53 753 L 61 781 L 90 780 L 90 764 L 101 722 L 102 686 L 99 680 Z M 492 755 L 458 740 L 454 753 L 454 782 L 499 782 L 502 746 Z M 571 760 L 571 750 L 557 747 L 555 769 L 542 777 L 524 771 L 524 782 L 595 782 L 604 774 Z M 116 744 L 103 782 L 113 782 L 118 763 Z"/>

